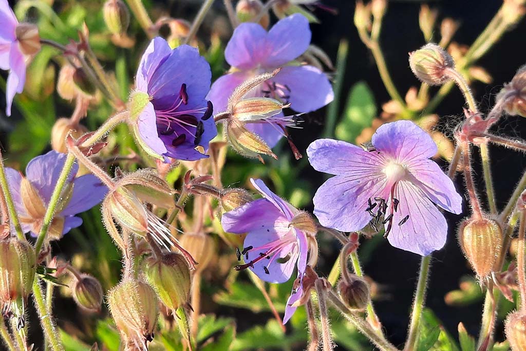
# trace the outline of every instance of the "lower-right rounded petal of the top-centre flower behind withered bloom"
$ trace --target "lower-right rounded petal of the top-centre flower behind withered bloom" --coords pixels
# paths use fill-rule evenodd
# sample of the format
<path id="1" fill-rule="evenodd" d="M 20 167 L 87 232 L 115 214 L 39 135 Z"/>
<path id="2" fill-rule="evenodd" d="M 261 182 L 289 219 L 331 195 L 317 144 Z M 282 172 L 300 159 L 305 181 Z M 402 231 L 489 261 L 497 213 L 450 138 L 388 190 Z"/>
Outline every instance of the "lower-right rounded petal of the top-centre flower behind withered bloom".
<path id="1" fill-rule="evenodd" d="M 315 111 L 334 99 L 329 79 L 313 66 L 283 67 L 274 80 L 290 88 L 290 108 L 297 112 Z"/>

